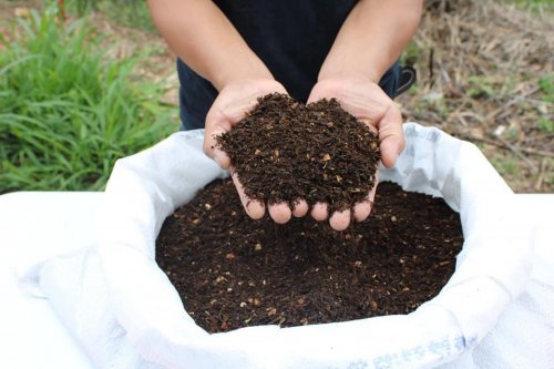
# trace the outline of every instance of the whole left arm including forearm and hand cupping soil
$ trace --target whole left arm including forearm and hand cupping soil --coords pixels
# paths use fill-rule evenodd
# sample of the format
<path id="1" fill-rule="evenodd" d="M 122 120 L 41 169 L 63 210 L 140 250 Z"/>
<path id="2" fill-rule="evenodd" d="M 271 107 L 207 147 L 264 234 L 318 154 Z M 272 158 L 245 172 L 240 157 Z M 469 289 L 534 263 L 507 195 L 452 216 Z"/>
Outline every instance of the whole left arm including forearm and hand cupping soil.
<path id="1" fill-rule="evenodd" d="M 217 148 L 214 137 L 229 131 L 254 107 L 257 98 L 287 92 L 213 1 L 148 0 L 148 7 L 170 48 L 219 91 L 206 115 L 204 151 L 223 168 L 229 168 L 230 160 Z M 247 198 L 234 168 L 230 173 L 246 213 L 260 218 L 265 204 Z M 283 207 L 269 207 L 276 222 L 290 217 L 290 211 Z"/>

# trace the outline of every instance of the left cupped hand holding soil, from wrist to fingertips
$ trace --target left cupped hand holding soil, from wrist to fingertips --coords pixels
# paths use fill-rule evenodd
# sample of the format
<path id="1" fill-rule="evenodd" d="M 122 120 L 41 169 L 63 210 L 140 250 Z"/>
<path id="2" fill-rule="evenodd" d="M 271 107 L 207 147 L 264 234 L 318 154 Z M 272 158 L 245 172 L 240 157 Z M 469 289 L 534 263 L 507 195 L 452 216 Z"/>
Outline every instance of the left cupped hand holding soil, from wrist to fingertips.
<path id="1" fill-rule="evenodd" d="M 230 131 L 233 125 L 238 123 L 257 104 L 258 98 L 274 92 L 287 94 L 287 91 L 279 82 L 270 79 L 249 79 L 232 82 L 222 89 L 206 115 L 204 152 L 220 167 L 230 170 L 240 202 L 246 214 L 253 219 L 259 219 L 264 216 L 266 204 L 246 196 L 244 186 L 238 180 L 235 168 L 230 165 L 229 156 L 219 148 L 215 137 Z M 286 204 L 273 204 L 268 206 L 268 211 L 276 223 L 283 224 L 290 219 L 291 214 L 296 216 L 306 215 L 308 205 L 304 202 L 304 204 L 295 206 L 295 209 L 290 211 Z"/>

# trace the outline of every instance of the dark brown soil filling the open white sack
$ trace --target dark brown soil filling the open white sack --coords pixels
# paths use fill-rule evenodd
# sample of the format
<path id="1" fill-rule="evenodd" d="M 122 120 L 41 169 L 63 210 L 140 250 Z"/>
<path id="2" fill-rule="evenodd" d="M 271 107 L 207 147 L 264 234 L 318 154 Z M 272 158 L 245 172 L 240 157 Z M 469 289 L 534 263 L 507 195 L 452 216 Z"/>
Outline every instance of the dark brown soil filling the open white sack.
<path id="1" fill-rule="evenodd" d="M 345 232 L 310 217 L 250 219 L 230 180 L 165 221 L 156 260 L 209 332 L 408 314 L 453 274 L 460 217 L 441 198 L 378 186 L 372 215 Z"/>

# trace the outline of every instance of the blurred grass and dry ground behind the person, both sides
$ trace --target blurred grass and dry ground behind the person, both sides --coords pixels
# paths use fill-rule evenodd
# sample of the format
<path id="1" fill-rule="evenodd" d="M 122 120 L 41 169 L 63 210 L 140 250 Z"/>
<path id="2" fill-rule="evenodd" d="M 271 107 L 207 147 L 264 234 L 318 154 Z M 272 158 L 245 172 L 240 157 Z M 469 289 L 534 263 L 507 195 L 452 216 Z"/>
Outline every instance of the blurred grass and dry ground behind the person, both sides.
<path id="1" fill-rule="evenodd" d="M 424 8 L 404 119 L 475 143 L 517 193 L 554 193 L 554 1 Z M 177 89 L 144 0 L 0 0 L 0 194 L 103 189 L 178 130 Z"/>

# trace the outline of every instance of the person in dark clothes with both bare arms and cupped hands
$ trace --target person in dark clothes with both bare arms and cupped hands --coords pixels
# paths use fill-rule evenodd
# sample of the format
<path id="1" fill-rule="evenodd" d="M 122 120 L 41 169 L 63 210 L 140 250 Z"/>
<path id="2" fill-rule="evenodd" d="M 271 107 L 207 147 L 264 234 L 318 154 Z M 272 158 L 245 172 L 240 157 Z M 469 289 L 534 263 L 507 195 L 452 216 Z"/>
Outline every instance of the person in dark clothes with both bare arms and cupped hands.
<path id="1" fill-rule="evenodd" d="M 183 129 L 205 126 L 204 151 L 223 168 L 229 157 L 215 136 L 232 129 L 257 98 L 287 93 L 304 102 L 337 99 L 342 109 L 378 133 L 382 163 L 394 165 L 404 146 L 402 116 L 392 98 L 399 59 L 421 18 L 422 0 L 148 0 L 154 23 L 177 54 Z M 252 218 L 266 204 L 244 194 Z M 312 206 L 317 221 L 342 230 L 366 219 L 376 187 L 366 201 L 329 216 Z M 307 215 L 305 201 L 289 208 L 267 206 L 276 223 Z"/>

